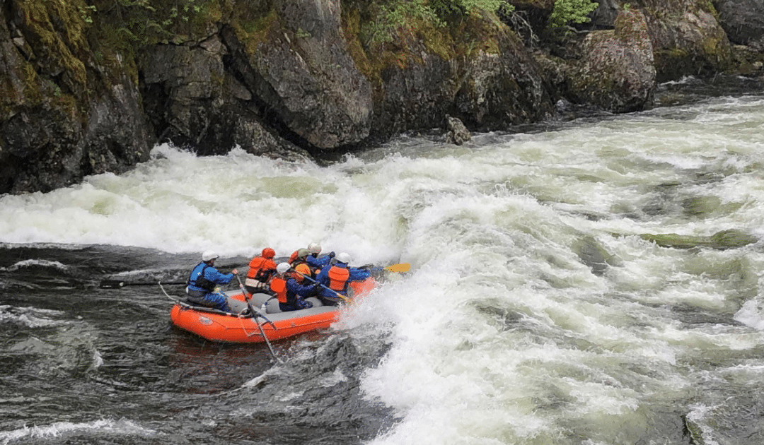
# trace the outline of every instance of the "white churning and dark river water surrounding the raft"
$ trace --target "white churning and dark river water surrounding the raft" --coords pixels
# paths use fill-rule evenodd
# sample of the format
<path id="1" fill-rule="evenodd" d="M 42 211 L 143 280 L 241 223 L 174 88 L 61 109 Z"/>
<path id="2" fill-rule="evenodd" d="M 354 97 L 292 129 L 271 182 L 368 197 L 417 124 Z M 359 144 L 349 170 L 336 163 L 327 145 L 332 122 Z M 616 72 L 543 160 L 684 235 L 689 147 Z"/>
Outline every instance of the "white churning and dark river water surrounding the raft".
<path id="1" fill-rule="evenodd" d="M 331 166 L 162 145 L 0 197 L 0 444 L 764 443 L 764 95 L 680 86 Z M 412 270 L 280 362 L 144 285 L 313 241 Z"/>

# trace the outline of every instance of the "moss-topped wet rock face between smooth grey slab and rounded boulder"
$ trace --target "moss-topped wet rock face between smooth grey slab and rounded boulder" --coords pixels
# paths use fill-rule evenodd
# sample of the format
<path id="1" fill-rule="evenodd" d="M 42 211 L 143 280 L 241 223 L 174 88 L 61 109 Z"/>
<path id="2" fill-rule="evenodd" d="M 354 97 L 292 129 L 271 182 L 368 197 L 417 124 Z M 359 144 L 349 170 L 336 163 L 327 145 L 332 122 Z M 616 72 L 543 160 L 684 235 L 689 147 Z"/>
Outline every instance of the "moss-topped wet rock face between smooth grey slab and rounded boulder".
<path id="1" fill-rule="evenodd" d="M 401 45 L 416 57 L 380 73 L 382 99 L 375 104 L 373 131 L 396 134 L 440 127 L 445 114 L 490 131 L 552 114 L 549 85 L 516 34 L 474 17 L 467 28 L 484 40 L 469 42 L 468 50 L 458 48 L 450 60 L 416 41 Z"/>

